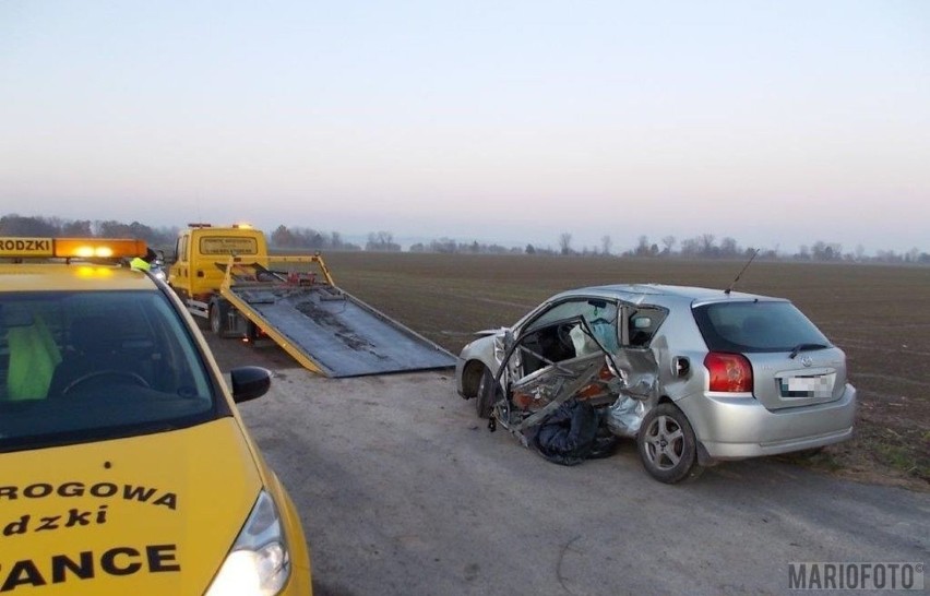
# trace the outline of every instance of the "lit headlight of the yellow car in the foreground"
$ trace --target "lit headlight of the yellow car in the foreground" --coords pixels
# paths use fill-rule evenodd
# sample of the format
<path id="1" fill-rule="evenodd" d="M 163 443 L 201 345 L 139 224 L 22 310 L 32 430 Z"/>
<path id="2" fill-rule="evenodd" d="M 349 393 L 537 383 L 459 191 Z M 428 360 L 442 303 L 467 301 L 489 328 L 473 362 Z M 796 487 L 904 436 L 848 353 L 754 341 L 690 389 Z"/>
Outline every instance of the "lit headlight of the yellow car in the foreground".
<path id="1" fill-rule="evenodd" d="M 206 596 L 273 596 L 289 576 L 290 555 L 281 517 L 274 500 L 262 490 Z"/>

